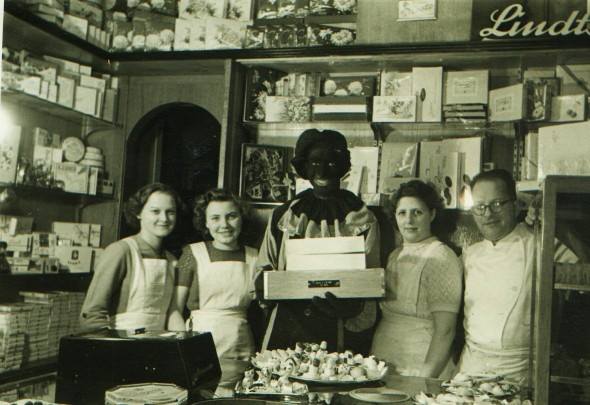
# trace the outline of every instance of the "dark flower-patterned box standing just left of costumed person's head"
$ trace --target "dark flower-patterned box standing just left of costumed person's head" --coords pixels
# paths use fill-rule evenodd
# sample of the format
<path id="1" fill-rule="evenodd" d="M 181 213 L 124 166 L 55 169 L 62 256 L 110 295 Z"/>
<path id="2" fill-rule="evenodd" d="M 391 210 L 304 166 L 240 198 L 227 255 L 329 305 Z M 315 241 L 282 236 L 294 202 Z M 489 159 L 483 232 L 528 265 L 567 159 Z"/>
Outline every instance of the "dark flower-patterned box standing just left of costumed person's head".
<path id="1" fill-rule="evenodd" d="M 240 196 L 258 203 L 282 203 L 289 199 L 291 148 L 243 144 Z"/>

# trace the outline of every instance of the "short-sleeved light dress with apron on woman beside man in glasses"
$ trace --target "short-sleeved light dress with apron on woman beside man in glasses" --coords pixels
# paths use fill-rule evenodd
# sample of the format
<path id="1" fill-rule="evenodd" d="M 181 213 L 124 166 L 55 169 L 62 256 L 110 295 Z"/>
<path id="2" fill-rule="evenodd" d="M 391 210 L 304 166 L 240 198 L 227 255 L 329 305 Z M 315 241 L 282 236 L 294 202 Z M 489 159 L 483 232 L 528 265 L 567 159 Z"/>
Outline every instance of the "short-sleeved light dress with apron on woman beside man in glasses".
<path id="1" fill-rule="evenodd" d="M 419 375 L 434 331 L 432 312 L 458 313 L 461 295 L 461 262 L 442 242 L 431 237 L 394 250 L 372 353 L 401 375 Z M 440 377 L 448 378 L 452 371 L 449 360 Z"/>

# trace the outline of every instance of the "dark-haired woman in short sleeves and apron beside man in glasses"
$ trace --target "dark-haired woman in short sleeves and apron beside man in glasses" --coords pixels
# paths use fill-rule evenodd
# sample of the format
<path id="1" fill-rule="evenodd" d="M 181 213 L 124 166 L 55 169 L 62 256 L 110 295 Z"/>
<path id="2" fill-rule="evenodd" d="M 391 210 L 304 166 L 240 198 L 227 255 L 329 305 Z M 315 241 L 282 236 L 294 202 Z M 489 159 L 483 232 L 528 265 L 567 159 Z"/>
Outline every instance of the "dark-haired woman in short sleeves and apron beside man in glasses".
<path id="1" fill-rule="evenodd" d="M 413 180 L 401 185 L 393 206 L 403 245 L 389 256 L 372 353 L 402 375 L 449 378 L 462 267 L 433 236 L 441 199 L 432 187 Z"/>

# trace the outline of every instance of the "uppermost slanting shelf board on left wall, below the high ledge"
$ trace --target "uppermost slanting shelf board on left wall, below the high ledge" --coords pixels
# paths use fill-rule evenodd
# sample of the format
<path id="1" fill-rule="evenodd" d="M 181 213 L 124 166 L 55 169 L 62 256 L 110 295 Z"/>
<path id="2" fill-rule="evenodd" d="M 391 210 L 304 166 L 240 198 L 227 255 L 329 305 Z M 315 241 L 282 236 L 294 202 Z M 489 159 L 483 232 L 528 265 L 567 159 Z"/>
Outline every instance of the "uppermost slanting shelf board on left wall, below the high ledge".
<path id="1" fill-rule="evenodd" d="M 72 108 L 64 107 L 61 104 L 52 103 L 51 101 L 35 97 L 30 94 L 22 93 L 15 90 L 3 90 L 2 102 L 12 103 L 37 110 L 42 113 L 50 114 L 53 117 L 59 117 L 63 120 L 73 122 L 78 125 L 89 124 L 92 129 L 99 128 L 118 128 L 116 123 L 97 118 L 92 115 L 76 111 Z"/>

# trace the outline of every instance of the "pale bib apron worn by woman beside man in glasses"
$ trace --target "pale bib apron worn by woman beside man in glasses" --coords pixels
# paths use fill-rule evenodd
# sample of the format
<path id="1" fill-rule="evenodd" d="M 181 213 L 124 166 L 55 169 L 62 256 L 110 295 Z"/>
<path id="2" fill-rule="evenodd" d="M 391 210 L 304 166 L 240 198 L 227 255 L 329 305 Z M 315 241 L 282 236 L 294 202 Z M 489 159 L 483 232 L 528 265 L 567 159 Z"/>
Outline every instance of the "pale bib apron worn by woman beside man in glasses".
<path id="1" fill-rule="evenodd" d="M 424 249 L 404 252 L 393 260 L 393 274 L 397 274 L 395 297 L 382 304 L 383 318 L 373 338 L 372 353 L 395 366 L 396 372 L 406 376 L 420 375 L 434 332 L 432 319 L 420 318 L 418 296 L 420 279 L 428 258 L 442 245 L 433 241 Z M 440 378 L 449 378 L 451 361 Z"/>

